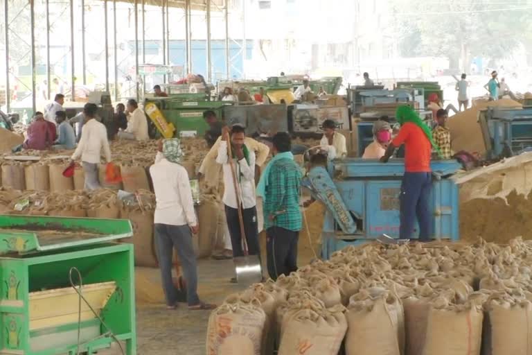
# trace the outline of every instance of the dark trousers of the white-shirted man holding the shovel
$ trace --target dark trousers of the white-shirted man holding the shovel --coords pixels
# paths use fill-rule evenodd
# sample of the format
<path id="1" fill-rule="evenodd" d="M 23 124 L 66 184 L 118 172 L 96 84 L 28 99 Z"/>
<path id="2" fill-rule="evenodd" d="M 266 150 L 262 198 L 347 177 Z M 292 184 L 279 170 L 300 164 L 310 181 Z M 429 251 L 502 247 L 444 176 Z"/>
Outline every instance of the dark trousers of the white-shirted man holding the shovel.
<path id="1" fill-rule="evenodd" d="M 238 209 L 226 205 L 225 216 L 227 217 L 229 234 L 231 234 L 233 257 L 243 257 L 244 250 L 242 249 L 242 234 L 240 233 Z M 244 232 L 246 234 L 247 250 L 249 255 L 260 255 L 256 207 L 242 209 L 242 219 L 244 220 Z"/>

